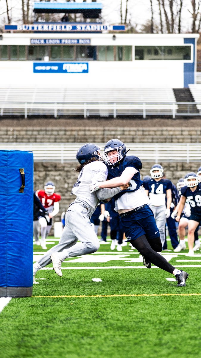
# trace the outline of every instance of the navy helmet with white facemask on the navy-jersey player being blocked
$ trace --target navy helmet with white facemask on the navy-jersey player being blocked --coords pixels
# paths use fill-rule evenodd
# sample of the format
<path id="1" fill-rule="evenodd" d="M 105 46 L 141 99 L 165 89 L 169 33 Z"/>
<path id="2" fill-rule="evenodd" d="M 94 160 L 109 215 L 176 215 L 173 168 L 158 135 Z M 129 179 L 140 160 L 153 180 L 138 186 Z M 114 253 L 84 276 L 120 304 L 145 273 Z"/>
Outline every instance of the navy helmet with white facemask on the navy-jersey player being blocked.
<path id="1" fill-rule="evenodd" d="M 112 150 L 117 150 L 117 160 L 114 161 L 114 163 L 111 163 L 108 158 L 108 152 L 111 152 Z M 106 145 L 104 147 L 104 155 L 106 156 L 108 165 L 113 165 L 113 166 L 117 165 L 122 159 L 125 158 L 126 153 L 127 153 L 126 146 L 119 139 L 108 140 L 108 142 L 106 143 Z M 110 157 L 110 159 L 112 159 L 112 158 L 113 158 L 113 156 Z"/>

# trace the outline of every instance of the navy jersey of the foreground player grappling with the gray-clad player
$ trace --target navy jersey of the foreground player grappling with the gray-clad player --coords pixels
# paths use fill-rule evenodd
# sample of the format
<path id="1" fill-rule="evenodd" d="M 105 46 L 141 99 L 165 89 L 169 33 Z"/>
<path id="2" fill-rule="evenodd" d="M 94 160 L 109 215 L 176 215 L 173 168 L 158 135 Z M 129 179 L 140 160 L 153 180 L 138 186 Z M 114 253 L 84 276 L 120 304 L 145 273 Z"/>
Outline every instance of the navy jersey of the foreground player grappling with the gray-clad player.
<path id="1" fill-rule="evenodd" d="M 107 165 L 107 164 L 106 164 Z M 138 170 L 136 174 L 133 175 L 131 180 L 129 180 L 130 187 L 126 190 L 122 190 L 120 193 L 114 196 L 114 199 L 117 200 L 121 197 L 125 192 L 135 192 L 139 189 L 139 187 L 142 186 L 143 181 L 140 179 L 140 173 L 139 170 L 142 169 L 142 163 L 139 158 L 137 158 L 134 155 L 128 155 L 126 156 L 119 164 L 119 167 L 107 165 L 108 168 L 108 177 L 107 179 L 116 178 L 117 176 L 121 176 L 124 169 L 126 169 L 128 166 L 131 166 L 132 168 L 135 168 Z"/>

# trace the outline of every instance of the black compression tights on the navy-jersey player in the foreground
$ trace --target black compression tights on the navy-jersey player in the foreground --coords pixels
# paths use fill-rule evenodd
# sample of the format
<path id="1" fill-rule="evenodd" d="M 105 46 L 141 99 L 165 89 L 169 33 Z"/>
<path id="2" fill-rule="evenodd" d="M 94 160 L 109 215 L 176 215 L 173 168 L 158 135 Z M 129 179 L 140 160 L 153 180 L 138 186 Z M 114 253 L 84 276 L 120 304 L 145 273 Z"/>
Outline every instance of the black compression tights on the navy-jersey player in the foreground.
<path id="1" fill-rule="evenodd" d="M 148 259 L 148 261 L 153 263 L 153 265 L 160 267 L 162 270 L 170 272 L 170 274 L 172 274 L 172 272 L 175 270 L 175 267 L 170 265 L 170 263 L 167 262 L 167 260 L 161 256 L 160 253 L 158 253 L 162 251 L 160 236 L 148 242 L 146 236 L 142 235 L 136 240 L 131 240 L 130 242 L 132 246 L 136 248 L 141 255 Z"/>

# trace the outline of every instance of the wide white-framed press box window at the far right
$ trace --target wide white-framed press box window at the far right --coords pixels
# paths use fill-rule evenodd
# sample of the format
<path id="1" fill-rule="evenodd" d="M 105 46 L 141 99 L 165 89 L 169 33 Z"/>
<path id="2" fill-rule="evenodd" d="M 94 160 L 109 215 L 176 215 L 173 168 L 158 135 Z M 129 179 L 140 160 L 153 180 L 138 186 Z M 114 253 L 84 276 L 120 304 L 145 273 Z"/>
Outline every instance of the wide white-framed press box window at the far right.
<path id="1" fill-rule="evenodd" d="M 135 60 L 191 60 L 191 46 L 135 46 Z"/>

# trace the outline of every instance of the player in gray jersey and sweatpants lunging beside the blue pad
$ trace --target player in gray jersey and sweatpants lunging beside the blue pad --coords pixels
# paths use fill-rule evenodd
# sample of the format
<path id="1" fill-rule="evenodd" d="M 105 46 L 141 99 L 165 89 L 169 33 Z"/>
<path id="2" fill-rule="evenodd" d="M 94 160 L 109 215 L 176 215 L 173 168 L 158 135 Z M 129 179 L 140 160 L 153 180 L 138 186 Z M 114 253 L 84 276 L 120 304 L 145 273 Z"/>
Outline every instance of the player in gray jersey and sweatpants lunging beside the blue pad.
<path id="1" fill-rule="evenodd" d="M 111 197 L 129 187 L 129 184 L 126 184 L 114 189 L 90 192 L 90 183 L 94 180 L 105 181 L 108 175 L 107 166 L 100 161 L 102 158 L 99 151 L 100 147 L 88 143 L 80 147 L 77 152 L 76 158 L 80 165 L 75 170 L 79 175 L 71 192 L 77 198 L 69 205 L 65 215 L 65 227 L 58 245 L 52 247 L 34 263 L 34 283 L 38 283 L 35 281 L 36 272 L 49 263 L 53 262 L 55 272 L 58 276 L 62 276 L 61 264 L 65 258 L 93 253 L 99 248 L 98 237 L 90 223 L 90 217 L 100 201 L 109 201 Z"/>

